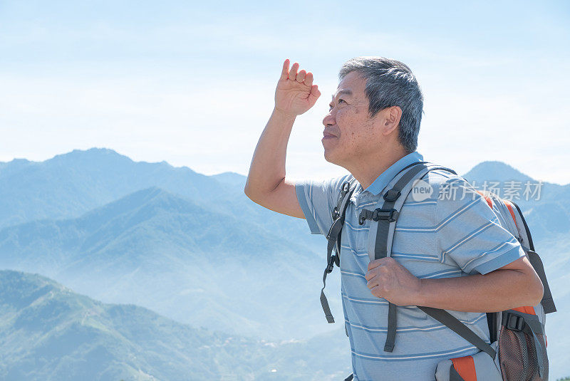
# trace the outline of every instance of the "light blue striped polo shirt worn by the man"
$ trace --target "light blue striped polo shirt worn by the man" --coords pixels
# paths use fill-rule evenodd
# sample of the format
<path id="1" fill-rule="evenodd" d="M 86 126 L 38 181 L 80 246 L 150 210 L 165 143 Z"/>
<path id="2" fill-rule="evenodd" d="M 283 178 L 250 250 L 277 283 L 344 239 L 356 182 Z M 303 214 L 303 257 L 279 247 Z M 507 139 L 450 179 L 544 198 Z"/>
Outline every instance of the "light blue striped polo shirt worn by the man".
<path id="1" fill-rule="evenodd" d="M 356 183 L 341 236 L 341 300 L 354 380 L 435 380 L 437 362 L 479 351 L 415 306 L 397 307 L 395 348 L 391 353 L 383 350 L 388 301 L 374 296 L 366 286 L 368 253 L 374 252 L 374 242 L 368 240 L 373 221 L 359 225 L 358 215 L 362 209 L 381 207 L 388 182 L 418 161 L 424 161 L 418 152 L 405 155 L 366 189 L 352 174 L 295 184 L 311 234 L 326 236 L 341 185 L 346 180 Z M 423 180 L 433 192 L 423 197 L 410 192 L 395 222 L 391 256 L 410 273 L 418 278 L 485 274 L 524 256 L 519 241 L 502 227 L 497 214 L 469 182 L 443 170 L 429 172 Z M 485 313 L 449 312 L 489 343 Z"/>

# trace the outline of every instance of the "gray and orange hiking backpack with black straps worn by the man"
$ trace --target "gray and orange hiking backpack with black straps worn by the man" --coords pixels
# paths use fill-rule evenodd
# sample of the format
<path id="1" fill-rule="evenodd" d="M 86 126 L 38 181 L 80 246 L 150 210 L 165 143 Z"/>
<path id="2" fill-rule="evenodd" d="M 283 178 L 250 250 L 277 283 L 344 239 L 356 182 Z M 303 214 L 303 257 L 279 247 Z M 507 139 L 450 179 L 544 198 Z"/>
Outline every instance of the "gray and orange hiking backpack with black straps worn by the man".
<path id="1" fill-rule="evenodd" d="M 405 169 L 408 169 L 406 172 Z M 435 169 L 443 169 L 457 175 L 447 167 L 434 165 L 430 162 L 415 162 L 403 168 L 395 175 L 385 189 L 383 206 L 373 211 L 363 209 L 359 223 L 372 219 L 378 221 L 375 238 L 375 259 L 390 256 L 392 249 L 395 222 L 398 220 L 400 209 L 408 197 L 415 181 Z M 404 172 L 400 177 L 398 175 Z M 346 216 L 348 202 L 356 189 L 356 180 L 344 182 L 338 197 L 336 207 L 332 211 L 333 224 L 328 230 L 327 266 L 323 273 L 323 288 L 321 288 L 321 306 L 328 323 L 334 323 L 331 309 L 324 294 L 326 276 L 333 271 L 334 265 L 340 266 L 341 233 Z M 480 349 L 479 353 L 470 356 L 442 360 L 437 364 L 435 379 L 437 381 L 476 381 L 476 380 L 548 380 L 548 357 L 546 355 L 546 335 L 544 331 L 546 313 L 556 312 L 551 291 L 546 281 L 544 266 L 540 256 L 534 251 L 529 226 L 524 220 L 521 209 L 511 200 L 502 199 L 492 192 L 477 191 L 487 201 L 495 214 L 502 216 L 501 224 L 520 242 L 527 254 L 534 271 L 537 272 L 544 294 L 537 306 L 523 306 L 512 310 L 487 313 L 490 345 L 474 333 L 467 325 L 457 320 L 446 310 L 418 306 L 427 315 L 462 336 L 472 345 Z M 497 209 L 497 210 L 495 210 Z M 497 212 L 498 211 L 498 212 Z M 333 250 L 336 251 L 333 254 Z M 348 331 L 346 330 L 348 336 Z M 388 304 L 388 333 L 384 350 L 392 352 L 395 345 L 396 308 Z M 353 379 L 353 375 L 345 381 Z"/>

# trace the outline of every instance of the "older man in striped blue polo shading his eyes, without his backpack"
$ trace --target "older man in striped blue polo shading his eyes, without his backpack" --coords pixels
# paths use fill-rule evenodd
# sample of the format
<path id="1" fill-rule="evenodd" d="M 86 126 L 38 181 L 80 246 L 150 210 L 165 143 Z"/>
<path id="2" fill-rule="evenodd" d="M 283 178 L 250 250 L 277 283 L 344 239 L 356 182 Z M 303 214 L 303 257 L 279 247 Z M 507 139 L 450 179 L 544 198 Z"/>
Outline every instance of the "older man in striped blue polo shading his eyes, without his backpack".
<path id="1" fill-rule="evenodd" d="M 370 224 L 360 224 L 358 216 L 380 201 L 400 170 L 423 161 L 416 151 L 423 95 L 408 66 L 382 57 L 347 61 L 339 79 L 323 119 L 322 144 L 325 159 L 350 174 L 325 181 L 286 177 L 291 128 L 321 95 L 313 74 L 298 63 L 289 69 L 286 60 L 244 192 L 267 209 L 306 219 L 311 234 L 326 235 L 341 184 L 356 181 L 340 253 L 354 379 L 434 380 L 437 362 L 479 350 L 416 306 L 450 311 L 489 343 L 485 312 L 535 306 L 542 284 L 519 241 L 480 194 L 441 197 L 451 185 L 472 190 L 443 170 L 423 179 L 434 189 L 429 197 L 405 199 L 391 256 L 371 261 Z M 397 306 L 398 336 L 393 350 L 385 351 L 389 303 Z"/>

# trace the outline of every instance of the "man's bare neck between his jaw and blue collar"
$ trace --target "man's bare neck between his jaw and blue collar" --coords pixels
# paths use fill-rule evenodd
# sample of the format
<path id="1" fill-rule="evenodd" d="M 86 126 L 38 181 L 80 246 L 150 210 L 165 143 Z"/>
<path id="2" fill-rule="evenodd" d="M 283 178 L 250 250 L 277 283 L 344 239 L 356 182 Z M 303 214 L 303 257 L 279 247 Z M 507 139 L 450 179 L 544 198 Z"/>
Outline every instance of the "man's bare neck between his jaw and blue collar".
<path id="1" fill-rule="evenodd" d="M 368 188 L 380 174 L 410 153 L 406 152 L 399 144 L 395 146 L 389 150 L 378 150 L 373 154 L 368 154 L 366 158 L 359 158 L 353 165 L 346 167 L 348 172 L 351 172 L 353 177 L 362 185 L 362 189 Z"/>

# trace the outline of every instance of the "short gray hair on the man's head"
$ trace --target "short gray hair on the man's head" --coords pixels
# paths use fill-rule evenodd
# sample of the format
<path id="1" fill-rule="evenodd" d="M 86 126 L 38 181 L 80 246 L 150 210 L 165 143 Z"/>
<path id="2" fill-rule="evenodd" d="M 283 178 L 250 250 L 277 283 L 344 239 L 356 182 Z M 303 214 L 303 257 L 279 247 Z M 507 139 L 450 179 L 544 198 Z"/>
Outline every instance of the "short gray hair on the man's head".
<path id="1" fill-rule="evenodd" d="M 390 58 L 356 57 L 343 64 L 338 79 L 342 80 L 352 71 L 366 80 L 365 93 L 371 118 L 388 107 L 402 109 L 398 140 L 407 152 L 414 152 L 422 122 L 423 95 L 410 68 Z"/>

